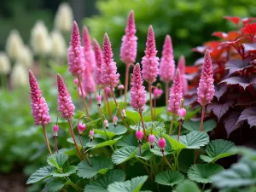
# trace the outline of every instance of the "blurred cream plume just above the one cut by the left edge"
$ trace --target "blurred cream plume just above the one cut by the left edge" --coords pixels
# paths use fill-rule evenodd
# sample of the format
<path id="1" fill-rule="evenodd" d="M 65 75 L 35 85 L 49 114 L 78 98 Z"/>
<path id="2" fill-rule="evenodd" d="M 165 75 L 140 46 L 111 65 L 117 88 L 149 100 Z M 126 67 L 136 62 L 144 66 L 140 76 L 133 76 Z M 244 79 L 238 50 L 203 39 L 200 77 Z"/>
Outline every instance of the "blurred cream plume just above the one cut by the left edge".
<path id="1" fill-rule="evenodd" d="M 6 41 L 6 52 L 11 60 L 16 61 L 20 56 L 20 48 L 23 46 L 22 38 L 17 30 L 12 30 Z"/>

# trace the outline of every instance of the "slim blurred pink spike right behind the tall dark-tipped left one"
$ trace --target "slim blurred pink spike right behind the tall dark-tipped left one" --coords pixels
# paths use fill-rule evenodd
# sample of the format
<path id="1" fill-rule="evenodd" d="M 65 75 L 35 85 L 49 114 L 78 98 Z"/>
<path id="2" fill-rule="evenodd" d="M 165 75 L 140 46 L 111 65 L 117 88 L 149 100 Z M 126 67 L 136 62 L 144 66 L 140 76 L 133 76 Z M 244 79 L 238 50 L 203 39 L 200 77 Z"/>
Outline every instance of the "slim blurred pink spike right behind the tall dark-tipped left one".
<path id="1" fill-rule="evenodd" d="M 83 28 L 83 42 L 84 42 L 84 61 L 85 67 L 90 68 L 90 72 L 94 73 L 96 61 L 93 49 L 90 44 L 90 34 L 87 26 Z"/>

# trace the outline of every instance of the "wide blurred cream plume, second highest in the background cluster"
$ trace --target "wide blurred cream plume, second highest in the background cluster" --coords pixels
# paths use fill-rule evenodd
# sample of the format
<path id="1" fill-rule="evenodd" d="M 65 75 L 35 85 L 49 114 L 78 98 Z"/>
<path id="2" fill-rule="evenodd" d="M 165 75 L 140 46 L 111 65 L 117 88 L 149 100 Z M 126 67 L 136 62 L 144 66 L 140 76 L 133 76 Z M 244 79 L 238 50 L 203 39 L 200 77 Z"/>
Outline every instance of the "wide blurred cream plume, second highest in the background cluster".
<path id="1" fill-rule="evenodd" d="M 42 20 L 38 20 L 36 25 L 32 28 L 31 45 L 36 55 L 49 54 L 51 46 L 49 32 Z"/>

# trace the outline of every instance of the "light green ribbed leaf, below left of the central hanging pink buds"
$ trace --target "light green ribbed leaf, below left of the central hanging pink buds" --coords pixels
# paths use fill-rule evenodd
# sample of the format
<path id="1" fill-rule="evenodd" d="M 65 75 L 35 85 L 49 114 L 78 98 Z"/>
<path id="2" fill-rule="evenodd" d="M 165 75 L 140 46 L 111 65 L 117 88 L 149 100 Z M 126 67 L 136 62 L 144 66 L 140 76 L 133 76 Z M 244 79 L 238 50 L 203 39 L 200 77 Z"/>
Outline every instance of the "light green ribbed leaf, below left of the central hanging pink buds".
<path id="1" fill-rule="evenodd" d="M 130 146 L 119 148 L 115 150 L 112 154 L 112 161 L 115 165 L 124 163 L 127 160 L 131 160 L 131 158 L 135 157 L 137 154 L 137 148 Z"/>

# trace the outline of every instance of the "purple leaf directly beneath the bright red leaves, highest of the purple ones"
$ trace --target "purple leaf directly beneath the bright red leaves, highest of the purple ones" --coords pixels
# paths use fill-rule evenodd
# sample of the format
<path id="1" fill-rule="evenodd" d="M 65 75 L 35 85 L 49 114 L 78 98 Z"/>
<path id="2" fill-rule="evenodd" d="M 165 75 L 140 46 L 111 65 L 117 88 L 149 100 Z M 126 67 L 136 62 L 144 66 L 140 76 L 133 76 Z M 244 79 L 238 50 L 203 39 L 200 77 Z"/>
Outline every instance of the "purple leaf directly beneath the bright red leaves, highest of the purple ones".
<path id="1" fill-rule="evenodd" d="M 226 62 L 226 69 L 230 70 L 229 76 L 230 76 L 230 74 L 242 71 L 247 67 L 252 67 L 253 65 L 249 64 L 249 62 L 250 62 L 249 58 L 247 58 L 245 60 L 234 59 L 234 60 L 230 60 L 230 61 Z"/>

